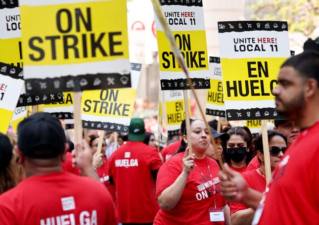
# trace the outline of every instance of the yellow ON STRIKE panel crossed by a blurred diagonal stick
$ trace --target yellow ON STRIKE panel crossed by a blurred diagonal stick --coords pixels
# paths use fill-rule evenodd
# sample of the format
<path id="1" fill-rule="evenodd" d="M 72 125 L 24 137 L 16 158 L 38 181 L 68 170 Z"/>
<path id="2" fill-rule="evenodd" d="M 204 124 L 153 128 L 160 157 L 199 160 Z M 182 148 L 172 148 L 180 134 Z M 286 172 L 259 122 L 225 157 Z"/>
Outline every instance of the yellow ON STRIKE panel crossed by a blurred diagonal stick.
<path id="1" fill-rule="evenodd" d="M 205 31 L 174 31 L 177 46 L 181 49 L 189 71 L 208 70 Z M 182 71 L 162 31 L 157 31 L 160 71 Z"/>

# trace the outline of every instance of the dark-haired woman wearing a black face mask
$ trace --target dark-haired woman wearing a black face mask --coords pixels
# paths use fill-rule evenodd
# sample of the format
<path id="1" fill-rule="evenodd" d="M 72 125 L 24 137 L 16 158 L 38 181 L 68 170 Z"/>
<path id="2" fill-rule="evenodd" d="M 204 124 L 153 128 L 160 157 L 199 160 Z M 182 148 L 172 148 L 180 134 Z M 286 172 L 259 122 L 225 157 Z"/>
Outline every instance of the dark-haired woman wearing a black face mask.
<path id="1" fill-rule="evenodd" d="M 253 136 L 248 127 L 225 128 L 229 139 L 226 149 L 223 151 L 223 161 L 239 173 L 246 170 L 247 165 L 253 158 L 252 142 Z"/>

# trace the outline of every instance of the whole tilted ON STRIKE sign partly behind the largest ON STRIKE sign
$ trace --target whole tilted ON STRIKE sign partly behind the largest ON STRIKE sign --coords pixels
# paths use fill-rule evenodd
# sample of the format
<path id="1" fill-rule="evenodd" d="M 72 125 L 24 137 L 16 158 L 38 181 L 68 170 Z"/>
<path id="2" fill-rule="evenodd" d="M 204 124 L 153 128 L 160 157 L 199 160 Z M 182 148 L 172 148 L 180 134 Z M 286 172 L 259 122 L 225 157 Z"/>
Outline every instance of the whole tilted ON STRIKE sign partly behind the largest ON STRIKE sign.
<path id="1" fill-rule="evenodd" d="M 131 64 L 132 88 L 83 91 L 83 128 L 128 132 L 141 64 Z"/>

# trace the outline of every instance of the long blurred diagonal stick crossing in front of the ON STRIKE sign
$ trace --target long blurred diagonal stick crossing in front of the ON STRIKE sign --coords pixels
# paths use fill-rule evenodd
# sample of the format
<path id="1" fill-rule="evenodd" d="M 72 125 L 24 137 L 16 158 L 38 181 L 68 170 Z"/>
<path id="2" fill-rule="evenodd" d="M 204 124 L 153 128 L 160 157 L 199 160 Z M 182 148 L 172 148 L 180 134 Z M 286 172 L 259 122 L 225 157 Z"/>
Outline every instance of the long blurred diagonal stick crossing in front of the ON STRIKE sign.
<path id="1" fill-rule="evenodd" d="M 197 103 L 197 105 L 199 106 L 198 108 L 199 108 L 200 113 L 201 113 L 201 116 L 202 116 L 202 118 L 203 118 L 203 120 L 204 120 L 204 122 L 205 122 L 205 124 L 206 124 L 206 127 L 207 127 L 207 128 L 210 128 L 209 125 L 208 125 L 208 123 L 207 123 L 207 120 L 206 120 L 206 118 L 205 118 L 205 114 L 204 114 L 204 112 L 203 112 L 203 109 L 202 109 L 201 106 L 200 106 L 198 97 L 197 97 L 197 95 L 196 95 L 196 93 L 195 93 L 195 90 L 194 90 L 194 86 L 193 86 L 193 84 L 192 84 L 192 81 L 191 81 L 191 79 L 189 78 L 188 69 L 187 69 L 187 66 L 186 66 L 186 64 L 185 64 L 185 61 L 183 60 L 182 54 L 181 54 L 179 48 L 177 47 L 176 42 L 175 42 L 175 39 L 174 39 L 174 37 L 173 37 L 173 35 L 172 35 L 172 32 L 171 32 L 170 28 L 168 27 L 168 25 L 167 25 L 167 23 L 166 23 L 166 20 L 165 20 L 165 18 L 164 18 L 164 16 L 163 16 L 163 12 L 162 12 L 161 6 L 160 6 L 160 4 L 159 4 L 159 1 L 158 1 L 158 0 L 152 0 L 152 4 L 153 4 L 153 6 L 154 6 L 154 11 L 155 11 L 157 17 L 159 18 L 161 25 L 163 26 L 165 35 L 166 35 L 167 40 L 168 40 L 168 42 L 169 42 L 169 44 L 170 44 L 170 46 L 171 46 L 171 48 L 172 48 L 172 50 L 173 50 L 173 53 L 174 53 L 175 57 L 177 58 L 178 63 L 179 63 L 179 65 L 181 66 L 183 72 L 184 72 L 185 75 L 186 75 L 187 81 L 188 81 L 189 86 L 190 86 L 190 88 L 191 88 L 191 91 L 192 91 L 192 93 L 193 93 L 193 95 L 194 95 L 194 97 L 195 97 L 196 103 Z M 186 95 L 186 96 L 188 97 L 188 95 Z M 184 96 L 184 98 L 185 98 L 185 96 Z M 187 98 L 187 100 L 188 100 L 188 98 Z M 184 102 L 186 102 L 186 101 L 184 101 Z M 187 102 L 187 103 L 188 103 L 188 102 Z M 185 112 L 186 112 L 186 109 L 188 109 L 188 108 L 185 107 Z M 189 121 L 189 120 L 188 120 L 188 121 Z M 187 119 L 186 119 L 186 122 L 187 122 Z M 187 126 L 187 124 L 186 124 L 186 126 Z M 216 143 L 215 143 L 215 141 L 214 141 L 214 137 L 213 137 L 212 132 L 211 132 L 210 129 L 208 129 L 208 133 L 209 133 L 209 135 L 210 135 L 210 137 L 211 137 L 211 143 L 213 144 L 213 147 L 214 147 L 215 151 L 217 151 L 217 146 L 216 146 Z M 187 134 L 190 134 L 190 133 L 187 133 Z M 219 162 L 220 165 L 221 165 L 221 169 L 222 169 L 223 172 L 225 172 L 224 164 L 223 164 L 223 161 L 222 161 L 222 159 L 221 159 L 221 156 L 220 156 L 219 154 L 217 154 L 217 156 L 218 156 L 218 162 Z"/>

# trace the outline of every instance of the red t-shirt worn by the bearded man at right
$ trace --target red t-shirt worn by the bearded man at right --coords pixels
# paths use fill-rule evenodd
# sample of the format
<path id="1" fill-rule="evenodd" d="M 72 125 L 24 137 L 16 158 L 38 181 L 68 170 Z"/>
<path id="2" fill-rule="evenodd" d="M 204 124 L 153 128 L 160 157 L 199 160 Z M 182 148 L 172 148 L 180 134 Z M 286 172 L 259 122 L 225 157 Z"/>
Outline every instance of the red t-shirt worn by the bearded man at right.
<path id="1" fill-rule="evenodd" d="M 278 163 L 259 225 L 319 223 L 319 122 L 303 130 Z"/>

